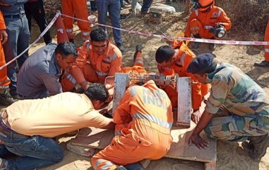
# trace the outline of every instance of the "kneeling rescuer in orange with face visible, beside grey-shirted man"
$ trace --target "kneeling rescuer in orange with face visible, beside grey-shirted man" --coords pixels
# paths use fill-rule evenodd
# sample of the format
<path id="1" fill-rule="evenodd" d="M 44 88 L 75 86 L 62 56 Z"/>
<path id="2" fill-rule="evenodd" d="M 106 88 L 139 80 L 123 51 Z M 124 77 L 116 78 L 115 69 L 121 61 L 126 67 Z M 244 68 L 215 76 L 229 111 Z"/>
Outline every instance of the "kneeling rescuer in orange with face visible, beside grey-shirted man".
<path id="1" fill-rule="evenodd" d="M 80 84 L 85 91 L 90 83 L 104 84 L 106 77 L 112 77 L 121 72 L 122 55 L 116 45 L 109 42 L 107 33 L 102 28 L 90 32 L 90 40 L 84 42 L 78 49 L 76 62 L 62 80 L 63 91 L 71 91 L 76 84 Z M 109 95 L 113 93 L 112 84 L 105 84 Z"/>

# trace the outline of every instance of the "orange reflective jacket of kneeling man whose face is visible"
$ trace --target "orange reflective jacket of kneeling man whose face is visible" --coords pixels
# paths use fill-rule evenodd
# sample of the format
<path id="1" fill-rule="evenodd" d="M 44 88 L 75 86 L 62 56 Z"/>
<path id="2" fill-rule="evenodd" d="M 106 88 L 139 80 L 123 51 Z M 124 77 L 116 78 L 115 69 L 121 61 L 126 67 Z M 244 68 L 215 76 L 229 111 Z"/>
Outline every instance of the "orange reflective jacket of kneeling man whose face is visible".
<path id="1" fill-rule="evenodd" d="M 83 46 L 79 48 L 78 57 L 76 62 L 74 62 L 72 69 L 78 67 L 82 69 L 85 64 L 90 64 L 92 68 L 95 69 L 98 79 L 103 80 L 105 77 L 114 76 L 116 72 L 121 72 L 121 51 L 116 47 L 116 45 L 108 42 L 107 50 L 104 54 L 97 55 L 97 53 L 92 50 L 90 40 L 87 40 L 84 42 Z M 76 81 L 78 81 L 78 84 L 85 81 L 83 72 L 80 69 L 76 69 L 76 74 L 72 74 Z"/>

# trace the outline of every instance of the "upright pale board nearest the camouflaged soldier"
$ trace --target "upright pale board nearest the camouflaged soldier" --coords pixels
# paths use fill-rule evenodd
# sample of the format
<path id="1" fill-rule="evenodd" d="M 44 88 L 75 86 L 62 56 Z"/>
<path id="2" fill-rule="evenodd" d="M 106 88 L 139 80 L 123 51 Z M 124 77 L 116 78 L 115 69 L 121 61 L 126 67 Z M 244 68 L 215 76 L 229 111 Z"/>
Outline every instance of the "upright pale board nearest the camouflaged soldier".
<path id="1" fill-rule="evenodd" d="M 191 78 L 177 80 L 177 125 L 189 128 L 191 122 Z"/>

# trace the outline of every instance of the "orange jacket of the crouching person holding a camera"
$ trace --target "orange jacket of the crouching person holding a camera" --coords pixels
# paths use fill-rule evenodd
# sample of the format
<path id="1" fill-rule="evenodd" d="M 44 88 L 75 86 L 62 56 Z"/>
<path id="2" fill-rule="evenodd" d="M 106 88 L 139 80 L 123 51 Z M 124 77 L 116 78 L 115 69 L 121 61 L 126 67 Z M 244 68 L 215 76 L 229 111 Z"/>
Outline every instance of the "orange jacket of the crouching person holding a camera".
<path id="1" fill-rule="evenodd" d="M 213 6 L 208 12 L 194 10 L 192 11 L 191 16 L 187 22 L 186 30 L 184 33 L 186 37 L 191 37 L 191 29 L 189 29 L 189 23 L 194 18 L 201 22 L 205 30 L 209 30 L 208 26 L 214 26 L 215 23 L 222 23 L 226 30 L 229 30 L 232 27 L 232 22 L 227 17 L 225 11 L 218 6 Z"/>

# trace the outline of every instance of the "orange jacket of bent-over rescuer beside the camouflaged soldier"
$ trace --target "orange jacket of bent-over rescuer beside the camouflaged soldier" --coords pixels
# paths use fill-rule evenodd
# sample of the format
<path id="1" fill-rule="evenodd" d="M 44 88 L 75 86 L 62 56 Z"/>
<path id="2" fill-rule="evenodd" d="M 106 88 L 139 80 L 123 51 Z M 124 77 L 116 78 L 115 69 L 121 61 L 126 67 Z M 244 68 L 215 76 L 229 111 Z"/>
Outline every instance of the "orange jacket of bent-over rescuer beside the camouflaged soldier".
<path id="1" fill-rule="evenodd" d="M 170 67 L 160 67 L 159 65 L 158 69 L 160 73 L 165 75 L 173 75 L 174 73 L 177 73 L 179 74 L 179 77 L 191 77 L 192 106 L 193 109 L 196 110 L 201 106 L 201 102 L 203 101 L 201 83 L 193 76 L 193 74 L 186 71 L 196 55 L 182 41 L 177 42 L 177 44 L 174 43 L 173 45 L 174 48 L 179 47 L 179 55 L 177 56 L 176 62 L 174 62 L 174 64 Z"/>

